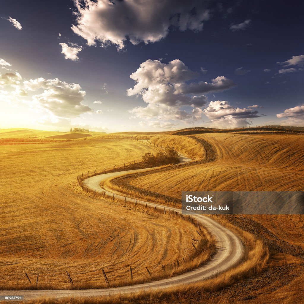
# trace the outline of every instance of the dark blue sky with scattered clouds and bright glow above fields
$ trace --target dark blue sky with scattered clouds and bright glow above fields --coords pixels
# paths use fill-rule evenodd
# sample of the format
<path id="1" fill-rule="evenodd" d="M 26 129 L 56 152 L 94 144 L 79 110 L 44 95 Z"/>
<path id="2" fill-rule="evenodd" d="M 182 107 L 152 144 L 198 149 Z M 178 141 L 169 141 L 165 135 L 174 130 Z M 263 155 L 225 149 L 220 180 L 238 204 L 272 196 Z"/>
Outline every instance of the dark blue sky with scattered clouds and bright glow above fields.
<path id="1" fill-rule="evenodd" d="M 0 128 L 304 126 L 300 1 L 0 7 Z"/>

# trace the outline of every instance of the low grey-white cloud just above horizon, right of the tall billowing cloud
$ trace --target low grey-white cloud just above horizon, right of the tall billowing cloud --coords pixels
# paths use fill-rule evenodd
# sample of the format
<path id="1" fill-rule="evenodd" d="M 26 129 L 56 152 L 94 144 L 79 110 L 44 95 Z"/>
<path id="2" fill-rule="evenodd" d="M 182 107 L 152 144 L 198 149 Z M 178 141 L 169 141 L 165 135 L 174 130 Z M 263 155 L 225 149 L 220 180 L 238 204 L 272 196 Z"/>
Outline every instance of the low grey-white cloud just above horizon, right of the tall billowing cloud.
<path id="1" fill-rule="evenodd" d="M 250 119 L 260 117 L 258 111 L 252 108 L 259 107 L 253 105 L 247 108 L 233 107 L 227 101 L 211 101 L 204 109 L 204 114 L 211 120 L 212 125 L 219 128 L 240 128 L 251 125 Z"/>

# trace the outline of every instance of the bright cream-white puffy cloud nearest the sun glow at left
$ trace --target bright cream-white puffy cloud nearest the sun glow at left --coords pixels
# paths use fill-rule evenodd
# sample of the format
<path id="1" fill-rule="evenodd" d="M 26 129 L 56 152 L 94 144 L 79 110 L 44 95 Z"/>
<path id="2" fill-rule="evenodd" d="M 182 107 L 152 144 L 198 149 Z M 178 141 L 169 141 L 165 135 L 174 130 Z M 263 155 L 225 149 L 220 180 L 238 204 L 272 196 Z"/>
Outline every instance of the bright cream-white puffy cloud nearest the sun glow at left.
<path id="1" fill-rule="evenodd" d="M 85 91 L 82 91 L 78 84 L 67 83 L 58 78 L 37 78 L 24 81 L 23 85 L 29 91 L 43 89 L 43 93 L 33 96 L 33 101 L 55 116 L 70 118 L 92 112 L 88 105 L 82 103 Z"/>

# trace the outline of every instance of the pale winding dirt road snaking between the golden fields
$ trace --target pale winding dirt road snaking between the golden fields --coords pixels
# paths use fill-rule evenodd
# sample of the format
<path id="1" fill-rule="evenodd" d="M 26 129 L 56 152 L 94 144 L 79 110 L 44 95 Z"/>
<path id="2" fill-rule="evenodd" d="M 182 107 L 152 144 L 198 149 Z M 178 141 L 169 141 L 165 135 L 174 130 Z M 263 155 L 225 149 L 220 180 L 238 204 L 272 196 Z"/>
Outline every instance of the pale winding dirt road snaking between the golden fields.
<path id="1" fill-rule="evenodd" d="M 191 161 L 187 157 L 179 156 L 180 163 L 186 163 Z M 108 178 L 115 178 L 128 173 L 137 173 L 142 171 L 154 170 L 150 169 L 140 169 L 140 170 L 130 170 L 130 171 L 121 171 L 114 173 L 107 173 L 96 175 L 91 178 L 87 178 L 83 181 L 83 185 L 88 188 L 96 189 L 96 192 L 106 192 L 107 195 L 113 195 L 113 192 L 106 191 L 101 188 L 100 183 Z M 124 196 L 115 194 L 116 198 L 125 199 Z M 126 198 L 127 202 L 135 202 L 135 199 Z M 166 209 L 171 209 L 174 211 L 181 212 L 181 209 L 168 207 L 160 204 L 149 203 L 137 200 L 138 204 L 144 204 L 148 206 L 154 205 L 158 207 L 166 207 Z M 135 293 L 139 291 L 147 290 L 162 290 L 166 288 L 176 287 L 183 284 L 191 284 L 194 282 L 206 280 L 226 271 L 227 269 L 235 266 L 243 257 L 244 247 L 240 238 L 225 228 L 224 226 L 217 223 L 215 220 L 202 215 L 194 215 L 193 218 L 203 226 L 205 226 L 210 233 L 214 236 L 216 240 L 216 253 L 213 255 L 211 260 L 201 267 L 186 272 L 181 275 L 177 275 L 172 278 L 163 279 L 160 281 L 149 282 L 144 284 L 137 284 L 132 286 L 124 286 L 117 288 L 108 288 L 108 289 L 86 289 L 86 290 L 23 290 L 23 291 L 0 291 L 0 295 L 24 295 L 24 300 L 37 299 L 41 297 L 50 297 L 50 298 L 64 298 L 64 297 L 92 297 L 92 296 L 102 296 L 102 295 L 113 295 L 113 294 L 126 294 L 126 293 Z"/>

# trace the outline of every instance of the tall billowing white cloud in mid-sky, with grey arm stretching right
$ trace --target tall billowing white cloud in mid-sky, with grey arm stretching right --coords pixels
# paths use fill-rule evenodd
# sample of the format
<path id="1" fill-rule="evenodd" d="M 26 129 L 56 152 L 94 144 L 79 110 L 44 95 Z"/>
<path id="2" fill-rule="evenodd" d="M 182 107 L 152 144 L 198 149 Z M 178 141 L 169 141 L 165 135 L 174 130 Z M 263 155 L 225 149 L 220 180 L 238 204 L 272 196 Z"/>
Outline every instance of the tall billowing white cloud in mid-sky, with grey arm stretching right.
<path id="1" fill-rule="evenodd" d="M 198 78 L 199 74 L 191 71 L 181 60 L 168 64 L 159 60 L 143 62 L 136 72 L 130 75 L 136 84 L 127 90 L 128 96 L 141 96 L 147 107 L 137 107 L 130 112 L 135 117 L 158 117 L 162 119 L 197 119 L 193 112 L 182 107 L 200 108 L 207 102 L 206 93 L 222 92 L 236 86 L 224 76 L 204 81 L 187 81 Z M 196 113 L 197 114 L 197 113 Z"/>

